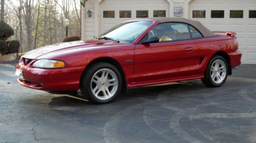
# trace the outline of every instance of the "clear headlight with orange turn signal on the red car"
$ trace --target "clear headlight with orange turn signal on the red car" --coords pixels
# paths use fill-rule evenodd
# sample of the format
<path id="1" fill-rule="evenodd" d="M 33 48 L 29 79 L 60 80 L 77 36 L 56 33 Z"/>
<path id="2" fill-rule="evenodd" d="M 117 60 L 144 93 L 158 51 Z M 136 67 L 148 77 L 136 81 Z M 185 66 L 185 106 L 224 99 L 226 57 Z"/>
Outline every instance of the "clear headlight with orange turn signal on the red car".
<path id="1" fill-rule="evenodd" d="M 36 61 L 33 64 L 33 67 L 47 68 L 47 69 L 64 68 L 65 63 L 62 61 L 57 61 L 57 60 L 42 59 L 42 60 Z"/>

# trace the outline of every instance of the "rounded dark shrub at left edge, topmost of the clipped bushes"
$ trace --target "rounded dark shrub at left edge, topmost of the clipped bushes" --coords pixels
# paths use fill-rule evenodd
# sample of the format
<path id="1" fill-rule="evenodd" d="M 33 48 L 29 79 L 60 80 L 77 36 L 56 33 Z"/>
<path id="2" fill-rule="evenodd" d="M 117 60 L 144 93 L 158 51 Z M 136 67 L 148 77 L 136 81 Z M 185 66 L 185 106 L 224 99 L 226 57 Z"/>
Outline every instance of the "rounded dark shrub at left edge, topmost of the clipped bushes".
<path id="1" fill-rule="evenodd" d="M 6 40 L 10 36 L 14 35 L 14 31 L 7 23 L 0 21 L 0 40 Z"/>

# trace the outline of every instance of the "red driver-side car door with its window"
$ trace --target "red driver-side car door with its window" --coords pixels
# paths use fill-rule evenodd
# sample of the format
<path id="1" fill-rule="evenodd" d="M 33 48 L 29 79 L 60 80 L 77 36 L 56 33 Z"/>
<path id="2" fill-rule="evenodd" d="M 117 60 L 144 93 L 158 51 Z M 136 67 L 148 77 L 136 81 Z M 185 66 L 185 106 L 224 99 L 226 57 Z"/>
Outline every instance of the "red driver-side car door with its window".
<path id="1" fill-rule="evenodd" d="M 197 75 L 201 58 L 187 24 L 158 24 L 142 41 L 152 36 L 160 41 L 135 46 L 134 79 L 138 85 Z"/>

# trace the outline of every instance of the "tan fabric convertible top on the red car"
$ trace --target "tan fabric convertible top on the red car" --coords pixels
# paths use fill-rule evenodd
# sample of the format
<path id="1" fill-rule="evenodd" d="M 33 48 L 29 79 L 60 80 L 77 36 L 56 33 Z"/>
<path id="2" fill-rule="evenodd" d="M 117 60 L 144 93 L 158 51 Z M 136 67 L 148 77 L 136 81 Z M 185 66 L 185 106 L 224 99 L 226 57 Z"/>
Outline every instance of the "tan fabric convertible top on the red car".
<path id="1" fill-rule="evenodd" d="M 172 17 L 172 18 L 168 18 L 168 17 L 151 17 L 151 18 L 146 18 L 146 19 L 157 20 L 160 23 L 165 23 L 165 22 L 182 22 L 182 23 L 187 23 L 187 24 L 190 24 L 190 25 L 194 26 L 195 28 L 197 28 L 197 30 L 199 30 L 204 37 L 215 36 L 215 34 L 212 33 L 210 30 L 208 30 L 201 22 L 196 21 L 196 20 L 190 20 L 190 19 L 186 19 L 186 18 L 176 18 L 176 17 Z"/>

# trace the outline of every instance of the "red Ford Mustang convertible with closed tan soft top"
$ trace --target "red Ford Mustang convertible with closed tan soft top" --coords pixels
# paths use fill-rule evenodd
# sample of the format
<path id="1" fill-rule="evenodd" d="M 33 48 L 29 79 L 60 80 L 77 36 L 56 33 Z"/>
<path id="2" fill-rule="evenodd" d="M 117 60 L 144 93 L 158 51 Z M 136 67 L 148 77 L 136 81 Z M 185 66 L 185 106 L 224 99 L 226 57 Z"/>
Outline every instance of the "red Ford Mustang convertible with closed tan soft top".
<path id="1" fill-rule="evenodd" d="M 241 64 L 235 35 L 211 32 L 185 18 L 131 20 L 94 40 L 29 51 L 15 74 L 25 87 L 80 89 L 94 103 L 110 102 L 127 88 L 164 82 L 201 78 L 208 87 L 219 87 Z"/>

